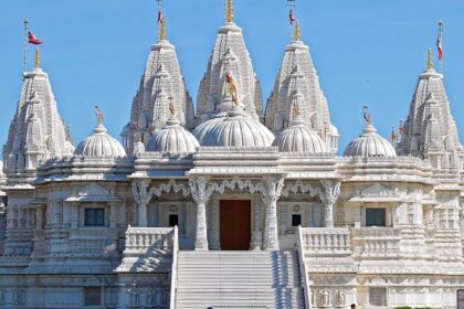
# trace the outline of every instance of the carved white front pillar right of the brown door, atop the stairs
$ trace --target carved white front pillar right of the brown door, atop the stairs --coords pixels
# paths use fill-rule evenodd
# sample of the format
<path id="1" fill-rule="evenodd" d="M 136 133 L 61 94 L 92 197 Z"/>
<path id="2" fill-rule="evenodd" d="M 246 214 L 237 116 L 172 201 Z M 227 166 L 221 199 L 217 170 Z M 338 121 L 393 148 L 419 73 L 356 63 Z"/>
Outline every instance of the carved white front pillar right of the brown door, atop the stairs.
<path id="1" fill-rule="evenodd" d="M 264 182 L 263 201 L 266 207 L 264 249 L 278 251 L 277 201 L 284 187 L 284 178 L 268 177 Z"/>

